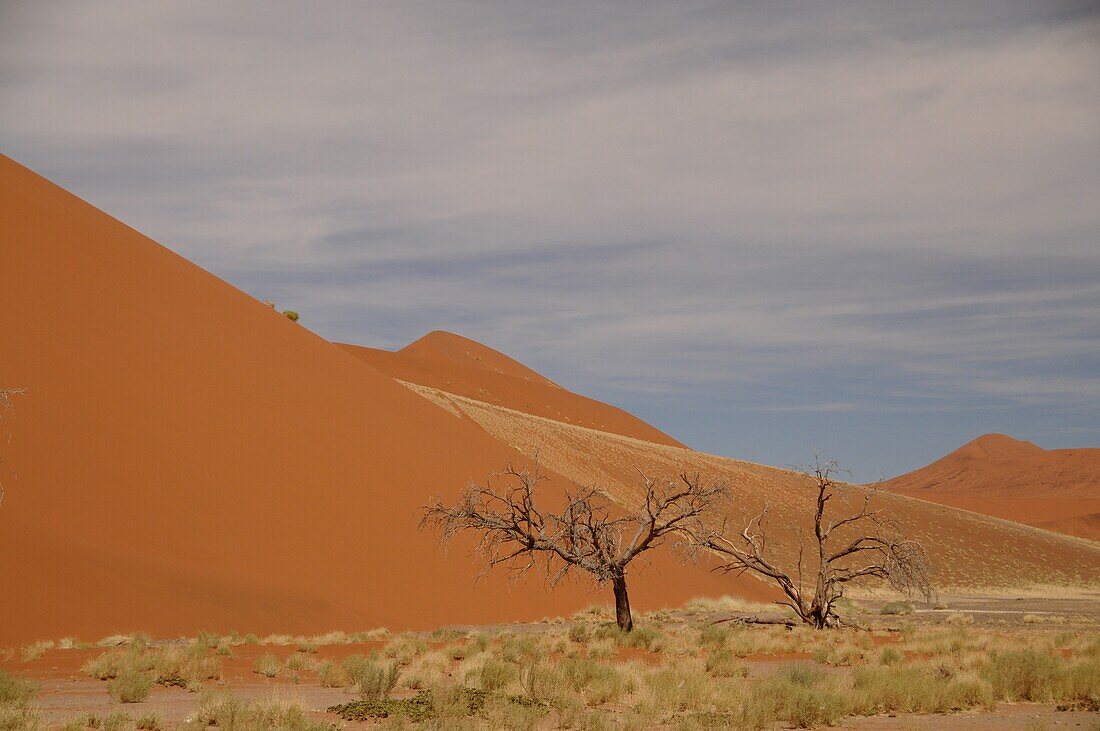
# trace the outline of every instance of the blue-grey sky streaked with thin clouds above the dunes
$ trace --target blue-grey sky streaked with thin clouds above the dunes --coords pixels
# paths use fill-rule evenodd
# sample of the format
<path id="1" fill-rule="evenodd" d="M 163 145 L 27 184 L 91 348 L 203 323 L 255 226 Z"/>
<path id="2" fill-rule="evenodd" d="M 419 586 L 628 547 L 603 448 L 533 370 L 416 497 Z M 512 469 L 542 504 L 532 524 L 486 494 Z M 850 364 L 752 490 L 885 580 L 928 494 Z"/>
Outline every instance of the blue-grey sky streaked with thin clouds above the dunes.
<path id="1" fill-rule="evenodd" d="M 707 452 L 1100 446 L 1094 1 L 3 0 L 0 151 Z"/>

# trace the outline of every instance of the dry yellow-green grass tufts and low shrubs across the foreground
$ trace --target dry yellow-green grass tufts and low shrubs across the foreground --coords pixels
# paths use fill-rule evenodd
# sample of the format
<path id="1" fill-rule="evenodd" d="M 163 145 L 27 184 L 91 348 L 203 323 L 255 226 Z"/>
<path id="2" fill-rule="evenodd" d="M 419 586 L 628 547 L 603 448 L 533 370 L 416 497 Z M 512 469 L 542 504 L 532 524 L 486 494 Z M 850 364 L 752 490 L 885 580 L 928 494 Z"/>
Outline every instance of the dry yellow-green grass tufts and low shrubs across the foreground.
<path id="1" fill-rule="evenodd" d="M 120 704 L 140 702 L 157 686 L 201 690 L 189 720 L 169 723 L 120 707 L 73 718 L 66 728 L 316 731 L 369 721 L 426 729 L 773 729 L 827 727 L 854 716 L 983 712 L 1018 701 L 1052 712 L 1100 711 L 1094 622 L 1036 625 L 1021 616 L 1011 627 L 959 624 L 955 613 L 883 613 L 889 603 L 846 601 L 846 623 L 860 627 L 828 632 L 723 621 L 765 608 L 700 600 L 644 614 L 631 632 L 619 630 L 613 608 L 598 607 L 492 632 L 272 635 L 264 642 L 279 644 L 257 638 L 258 646 L 235 634 L 169 643 L 132 636 L 91 657 L 85 673 L 102 679 Z M 330 650 L 349 643 L 350 654 Z M 308 709 L 285 697 L 253 702 L 212 693 L 224 647 L 271 677 L 276 699 L 277 686 L 288 683 L 346 696 Z M 0 730 L 44 727 L 35 693 L 33 684 L 0 675 Z"/>

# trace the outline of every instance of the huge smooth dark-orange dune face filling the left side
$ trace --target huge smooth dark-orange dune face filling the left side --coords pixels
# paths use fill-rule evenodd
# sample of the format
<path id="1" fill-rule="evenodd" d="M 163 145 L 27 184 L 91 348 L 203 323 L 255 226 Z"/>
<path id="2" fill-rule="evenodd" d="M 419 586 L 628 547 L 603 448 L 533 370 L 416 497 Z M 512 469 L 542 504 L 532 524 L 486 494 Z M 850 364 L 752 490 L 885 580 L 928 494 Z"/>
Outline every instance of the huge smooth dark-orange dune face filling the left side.
<path id="1" fill-rule="evenodd" d="M 344 350 L 0 157 L 0 644 L 200 629 L 429 628 L 573 611 L 417 530 L 521 457 Z M 728 587 L 636 580 L 640 609 Z"/>

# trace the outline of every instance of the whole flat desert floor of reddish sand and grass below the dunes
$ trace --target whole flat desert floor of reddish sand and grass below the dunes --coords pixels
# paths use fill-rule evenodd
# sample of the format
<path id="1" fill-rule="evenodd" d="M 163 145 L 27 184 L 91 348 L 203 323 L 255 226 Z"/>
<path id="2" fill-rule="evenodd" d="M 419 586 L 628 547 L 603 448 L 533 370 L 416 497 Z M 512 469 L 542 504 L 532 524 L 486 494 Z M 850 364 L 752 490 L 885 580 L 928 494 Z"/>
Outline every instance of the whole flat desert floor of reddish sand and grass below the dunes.
<path id="1" fill-rule="evenodd" d="M 628 635 L 594 607 L 435 632 L 38 643 L 0 655 L 9 686 L 35 689 L 0 693 L 0 728 L 1100 729 L 1100 595 L 865 599 L 846 614 L 862 629 L 824 632 L 722 621 L 769 611 L 697 600 Z M 120 702 L 134 677 L 152 688 Z M 326 711 L 364 693 L 361 719 Z"/>

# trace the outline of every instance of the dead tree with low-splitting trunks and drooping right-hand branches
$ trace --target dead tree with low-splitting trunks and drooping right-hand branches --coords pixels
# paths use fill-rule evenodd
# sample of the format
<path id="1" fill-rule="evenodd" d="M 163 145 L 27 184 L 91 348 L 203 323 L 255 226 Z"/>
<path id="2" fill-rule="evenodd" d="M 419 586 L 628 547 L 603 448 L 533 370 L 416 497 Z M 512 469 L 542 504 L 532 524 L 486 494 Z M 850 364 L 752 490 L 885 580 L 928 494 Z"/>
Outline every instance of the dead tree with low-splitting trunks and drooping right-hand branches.
<path id="1" fill-rule="evenodd" d="M 932 596 L 931 569 L 924 547 L 906 539 L 898 522 L 881 510 L 872 510 L 876 496 L 867 490 L 858 510 L 829 518 L 829 500 L 842 489 L 849 489 L 835 479 L 839 468 L 834 461 L 822 462 L 803 470 L 813 478 L 816 492 L 814 541 L 811 551 L 816 556 L 806 562 L 806 545 L 799 534 L 799 555 L 793 571 L 779 565 L 768 544 L 768 507 L 749 520 L 734 539 L 726 538 L 725 525 L 694 534 L 697 547 L 710 549 L 725 560 L 721 571 L 738 575 L 751 572 L 773 582 L 783 591 L 784 600 L 799 620 L 817 629 L 842 624 L 836 601 L 845 588 L 867 580 L 886 582 L 905 594 L 919 592 L 926 600 Z M 814 573 L 804 580 L 806 563 Z"/>

